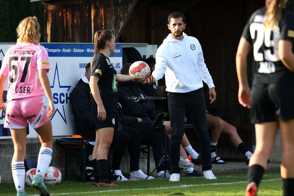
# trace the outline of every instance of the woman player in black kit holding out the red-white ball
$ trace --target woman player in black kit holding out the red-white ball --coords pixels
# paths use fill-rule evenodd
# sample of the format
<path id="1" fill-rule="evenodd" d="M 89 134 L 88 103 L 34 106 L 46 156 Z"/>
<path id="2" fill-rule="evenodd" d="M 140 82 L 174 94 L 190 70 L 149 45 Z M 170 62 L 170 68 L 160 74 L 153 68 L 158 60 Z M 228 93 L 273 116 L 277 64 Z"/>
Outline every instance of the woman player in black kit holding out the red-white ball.
<path id="1" fill-rule="evenodd" d="M 94 35 L 95 52 L 91 62 L 90 88 L 92 92 L 91 112 L 95 120 L 97 148 L 98 186 L 117 186 L 108 180 L 107 154 L 112 142 L 114 128 L 118 128 L 117 87 L 115 82 L 137 80 L 144 77 L 117 74 L 109 60 L 115 52 L 114 36 L 109 30 L 97 31 Z"/>

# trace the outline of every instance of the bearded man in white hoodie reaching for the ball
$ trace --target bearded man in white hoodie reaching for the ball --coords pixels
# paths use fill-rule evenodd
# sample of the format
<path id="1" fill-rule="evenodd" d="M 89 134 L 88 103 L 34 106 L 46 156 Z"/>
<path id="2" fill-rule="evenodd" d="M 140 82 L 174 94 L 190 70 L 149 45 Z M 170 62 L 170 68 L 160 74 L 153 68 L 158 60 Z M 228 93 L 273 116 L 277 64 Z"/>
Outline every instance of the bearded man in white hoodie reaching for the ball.
<path id="1" fill-rule="evenodd" d="M 211 75 L 204 63 L 199 41 L 183 33 L 185 17 L 179 12 L 168 16 L 170 34 L 156 52 L 155 70 L 146 83 L 161 79 L 165 73 L 168 109 L 171 122 L 170 181 L 180 181 L 180 144 L 184 134 L 184 116 L 188 109 L 199 141 L 204 178 L 216 179 L 211 171 L 211 148 L 206 127 L 206 107 L 202 80 L 209 87 L 210 103 L 216 98 Z"/>

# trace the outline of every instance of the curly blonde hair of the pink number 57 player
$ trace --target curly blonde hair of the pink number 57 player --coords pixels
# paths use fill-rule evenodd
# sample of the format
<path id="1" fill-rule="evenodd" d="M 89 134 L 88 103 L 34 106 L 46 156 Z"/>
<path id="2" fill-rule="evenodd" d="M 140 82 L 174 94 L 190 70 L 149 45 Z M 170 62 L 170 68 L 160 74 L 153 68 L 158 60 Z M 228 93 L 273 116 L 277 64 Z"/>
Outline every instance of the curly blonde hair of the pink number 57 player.
<path id="1" fill-rule="evenodd" d="M 17 43 L 39 44 L 41 37 L 41 26 L 36 16 L 26 17 L 20 21 L 17 32 Z"/>

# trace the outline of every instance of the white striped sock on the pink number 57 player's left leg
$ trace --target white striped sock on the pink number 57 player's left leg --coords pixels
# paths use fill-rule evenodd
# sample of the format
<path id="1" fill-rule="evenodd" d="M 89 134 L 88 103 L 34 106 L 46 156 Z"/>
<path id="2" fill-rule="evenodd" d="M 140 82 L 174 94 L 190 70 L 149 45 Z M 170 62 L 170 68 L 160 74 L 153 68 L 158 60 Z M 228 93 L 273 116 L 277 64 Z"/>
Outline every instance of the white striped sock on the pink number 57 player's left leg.
<path id="1" fill-rule="evenodd" d="M 14 180 L 14 185 L 17 191 L 24 191 L 24 178 L 26 169 L 24 167 L 23 161 L 17 161 L 11 163 L 12 177 Z M 23 191 L 22 191 L 23 190 Z"/>

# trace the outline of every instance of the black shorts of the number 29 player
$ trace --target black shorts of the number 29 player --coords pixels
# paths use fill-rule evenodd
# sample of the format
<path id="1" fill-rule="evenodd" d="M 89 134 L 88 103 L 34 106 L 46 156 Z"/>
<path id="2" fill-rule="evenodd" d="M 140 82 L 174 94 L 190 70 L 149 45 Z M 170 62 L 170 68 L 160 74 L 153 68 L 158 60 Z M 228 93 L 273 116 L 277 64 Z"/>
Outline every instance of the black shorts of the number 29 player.
<path id="1" fill-rule="evenodd" d="M 251 90 L 251 123 L 294 118 L 294 85 L 255 84 Z"/>

